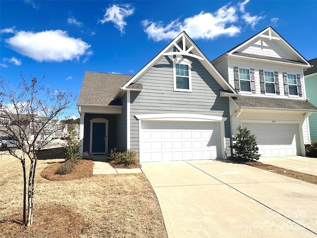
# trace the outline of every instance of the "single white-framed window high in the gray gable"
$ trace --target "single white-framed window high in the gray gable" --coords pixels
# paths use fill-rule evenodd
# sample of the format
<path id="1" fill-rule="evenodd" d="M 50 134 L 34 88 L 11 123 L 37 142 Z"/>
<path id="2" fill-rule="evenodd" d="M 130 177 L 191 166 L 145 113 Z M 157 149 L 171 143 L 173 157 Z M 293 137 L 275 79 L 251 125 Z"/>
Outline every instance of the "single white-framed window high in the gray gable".
<path id="1" fill-rule="evenodd" d="M 191 63 L 190 60 L 183 58 L 174 60 L 174 91 L 192 91 Z"/>

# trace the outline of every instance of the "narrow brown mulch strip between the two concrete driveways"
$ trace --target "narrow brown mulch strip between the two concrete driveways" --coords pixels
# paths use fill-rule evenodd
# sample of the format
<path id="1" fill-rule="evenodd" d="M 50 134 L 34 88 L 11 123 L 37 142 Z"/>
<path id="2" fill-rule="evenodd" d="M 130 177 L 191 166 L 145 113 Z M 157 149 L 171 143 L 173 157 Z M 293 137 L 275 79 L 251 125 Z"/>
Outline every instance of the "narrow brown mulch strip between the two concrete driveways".
<path id="1" fill-rule="evenodd" d="M 314 176 L 314 175 L 309 175 L 309 174 L 305 174 L 305 173 L 301 173 L 301 172 L 297 172 L 293 170 L 287 170 L 287 169 L 276 167 L 273 165 L 266 165 L 259 161 L 245 162 L 244 164 L 253 166 L 259 169 L 263 169 L 266 171 L 270 171 L 279 175 L 284 175 L 293 179 L 299 179 L 305 182 L 317 184 L 317 176 Z"/>

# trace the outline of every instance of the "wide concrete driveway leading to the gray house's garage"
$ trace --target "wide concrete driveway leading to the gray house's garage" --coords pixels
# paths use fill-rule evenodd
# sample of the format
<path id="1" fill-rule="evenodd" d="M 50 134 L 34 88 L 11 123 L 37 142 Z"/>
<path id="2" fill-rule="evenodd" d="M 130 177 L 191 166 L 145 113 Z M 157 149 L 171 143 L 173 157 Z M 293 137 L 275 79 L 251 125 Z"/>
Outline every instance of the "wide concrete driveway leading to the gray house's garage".
<path id="1" fill-rule="evenodd" d="M 144 163 L 169 238 L 317 237 L 317 185 L 227 161 Z"/>

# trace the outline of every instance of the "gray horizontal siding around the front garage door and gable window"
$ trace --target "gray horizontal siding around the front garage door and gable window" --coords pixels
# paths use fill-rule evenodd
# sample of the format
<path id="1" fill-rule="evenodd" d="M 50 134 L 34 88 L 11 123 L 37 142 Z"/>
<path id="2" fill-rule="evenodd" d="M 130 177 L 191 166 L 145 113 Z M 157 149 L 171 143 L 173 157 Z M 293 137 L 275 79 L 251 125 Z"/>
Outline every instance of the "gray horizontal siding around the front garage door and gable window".
<path id="1" fill-rule="evenodd" d="M 131 149 L 139 151 L 139 123 L 135 115 L 155 113 L 185 113 L 225 117 L 226 142 L 230 138 L 229 102 L 220 98 L 222 87 L 199 62 L 192 63 L 192 92 L 173 91 L 173 63 L 162 57 L 137 83 L 141 92 L 131 91 Z M 229 150 L 226 143 L 226 149 Z"/>

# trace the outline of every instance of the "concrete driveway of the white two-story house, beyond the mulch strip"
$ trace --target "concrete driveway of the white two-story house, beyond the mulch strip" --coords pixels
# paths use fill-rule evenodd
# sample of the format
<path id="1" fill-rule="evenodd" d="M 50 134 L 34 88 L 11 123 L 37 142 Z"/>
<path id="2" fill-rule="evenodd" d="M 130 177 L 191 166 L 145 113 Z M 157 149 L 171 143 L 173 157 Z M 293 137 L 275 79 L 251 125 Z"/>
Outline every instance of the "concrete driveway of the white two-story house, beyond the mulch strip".
<path id="1" fill-rule="evenodd" d="M 304 156 L 261 157 L 263 164 L 317 176 L 317 158 Z"/>

